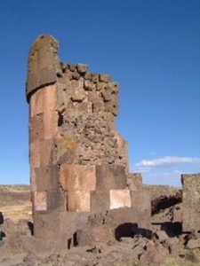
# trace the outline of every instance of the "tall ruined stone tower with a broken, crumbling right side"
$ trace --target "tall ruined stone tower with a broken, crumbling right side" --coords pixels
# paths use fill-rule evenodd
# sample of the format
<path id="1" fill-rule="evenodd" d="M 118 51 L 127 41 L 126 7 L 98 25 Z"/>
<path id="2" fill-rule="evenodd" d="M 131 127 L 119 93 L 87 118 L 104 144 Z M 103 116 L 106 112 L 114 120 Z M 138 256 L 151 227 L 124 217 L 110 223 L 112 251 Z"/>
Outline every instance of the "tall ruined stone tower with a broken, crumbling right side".
<path id="1" fill-rule="evenodd" d="M 41 35 L 28 56 L 34 236 L 70 248 L 150 229 L 147 186 L 129 173 L 127 141 L 116 131 L 118 83 L 61 62 L 58 49 Z"/>

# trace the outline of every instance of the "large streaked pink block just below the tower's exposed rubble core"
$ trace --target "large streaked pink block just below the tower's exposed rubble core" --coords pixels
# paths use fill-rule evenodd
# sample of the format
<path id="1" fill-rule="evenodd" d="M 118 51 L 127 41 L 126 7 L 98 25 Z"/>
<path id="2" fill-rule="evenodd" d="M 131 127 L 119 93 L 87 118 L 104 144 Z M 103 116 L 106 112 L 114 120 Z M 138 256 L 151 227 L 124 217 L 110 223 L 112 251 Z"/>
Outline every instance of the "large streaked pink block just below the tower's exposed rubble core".
<path id="1" fill-rule="evenodd" d="M 60 184 L 65 191 L 94 191 L 96 172 L 94 165 L 60 165 Z"/>

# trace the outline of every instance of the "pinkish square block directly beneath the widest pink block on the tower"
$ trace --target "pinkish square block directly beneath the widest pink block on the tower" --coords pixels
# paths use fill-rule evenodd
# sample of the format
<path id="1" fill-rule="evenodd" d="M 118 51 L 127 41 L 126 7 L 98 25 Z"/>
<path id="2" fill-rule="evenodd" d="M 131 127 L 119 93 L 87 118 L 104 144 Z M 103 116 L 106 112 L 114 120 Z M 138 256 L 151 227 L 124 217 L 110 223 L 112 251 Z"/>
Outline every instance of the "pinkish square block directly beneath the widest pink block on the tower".
<path id="1" fill-rule="evenodd" d="M 90 192 L 73 191 L 68 192 L 68 211 L 72 212 L 90 212 L 91 197 Z"/>

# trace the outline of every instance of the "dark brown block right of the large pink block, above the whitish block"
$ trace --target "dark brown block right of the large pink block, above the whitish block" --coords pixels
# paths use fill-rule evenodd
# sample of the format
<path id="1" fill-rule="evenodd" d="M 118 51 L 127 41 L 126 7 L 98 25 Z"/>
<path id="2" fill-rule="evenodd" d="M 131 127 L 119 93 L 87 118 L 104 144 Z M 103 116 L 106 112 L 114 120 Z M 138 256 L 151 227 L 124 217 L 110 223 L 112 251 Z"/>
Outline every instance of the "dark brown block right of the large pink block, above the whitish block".
<path id="1" fill-rule="evenodd" d="M 124 167 L 107 164 L 96 166 L 96 190 L 124 190 L 125 188 Z"/>

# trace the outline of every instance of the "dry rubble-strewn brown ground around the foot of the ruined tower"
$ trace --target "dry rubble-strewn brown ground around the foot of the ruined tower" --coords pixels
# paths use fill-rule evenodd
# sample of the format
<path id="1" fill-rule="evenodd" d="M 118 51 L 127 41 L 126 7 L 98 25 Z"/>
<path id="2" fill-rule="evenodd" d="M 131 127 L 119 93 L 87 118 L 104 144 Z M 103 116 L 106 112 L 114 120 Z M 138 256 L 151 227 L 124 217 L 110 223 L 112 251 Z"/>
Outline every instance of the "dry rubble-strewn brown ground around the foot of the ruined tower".
<path id="1" fill-rule="evenodd" d="M 181 234 L 181 221 L 172 223 L 173 216 L 181 218 L 181 203 L 152 216 L 150 238 L 139 231 L 132 238 L 59 251 L 31 236 L 31 210 L 30 186 L 0 186 L 0 212 L 4 215 L 0 224 L 1 266 L 200 265 L 200 240 Z M 164 222 L 163 228 L 157 222 Z"/>

